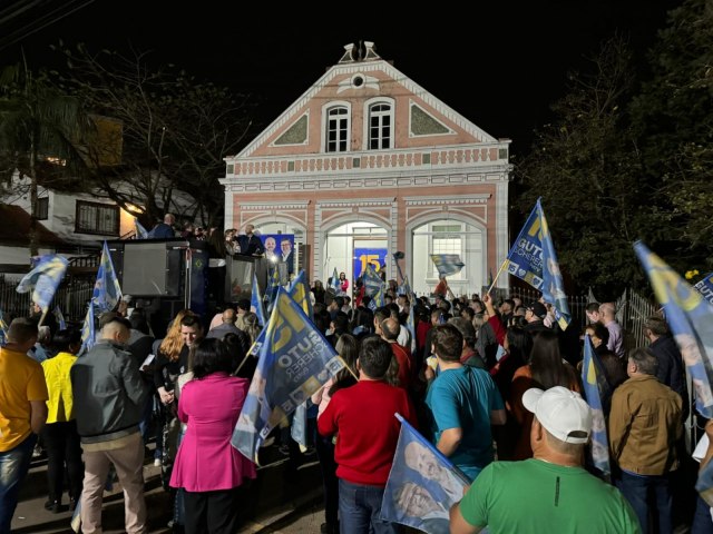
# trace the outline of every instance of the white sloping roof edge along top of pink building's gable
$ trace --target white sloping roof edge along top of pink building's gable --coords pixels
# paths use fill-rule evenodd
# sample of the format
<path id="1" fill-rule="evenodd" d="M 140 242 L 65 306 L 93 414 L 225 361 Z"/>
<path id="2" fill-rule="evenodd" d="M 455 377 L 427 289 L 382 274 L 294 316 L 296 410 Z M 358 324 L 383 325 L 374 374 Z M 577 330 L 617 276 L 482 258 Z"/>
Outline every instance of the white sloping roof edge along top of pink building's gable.
<path id="1" fill-rule="evenodd" d="M 400 83 L 408 92 L 418 95 L 419 98 L 437 109 L 443 117 L 458 125 L 468 134 L 479 139 L 480 142 L 498 142 L 498 139 L 478 128 L 469 119 L 443 103 L 438 98 L 433 97 L 424 88 L 408 78 L 401 71 L 395 69 L 389 61 L 382 59 L 374 50 L 373 42 L 360 43 L 359 47 L 354 44 L 344 46 L 345 52 L 340 61 L 310 87 L 300 98 L 297 98 L 282 115 L 280 115 L 265 130 L 263 130 L 255 139 L 253 139 L 243 150 L 234 156 L 235 159 L 248 158 L 255 150 L 262 147 L 267 139 L 271 138 L 277 130 L 285 125 L 291 123 L 299 118 L 299 113 L 303 113 L 305 106 L 310 100 L 318 96 L 322 89 L 333 83 L 334 78 L 342 77 L 344 75 L 353 75 L 356 72 L 368 73 L 374 71 L 382 71 L 389 78 Z M 232 159 L 232 158 L 227 158 Z"/>

